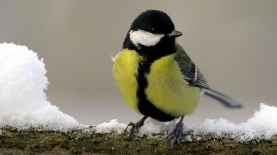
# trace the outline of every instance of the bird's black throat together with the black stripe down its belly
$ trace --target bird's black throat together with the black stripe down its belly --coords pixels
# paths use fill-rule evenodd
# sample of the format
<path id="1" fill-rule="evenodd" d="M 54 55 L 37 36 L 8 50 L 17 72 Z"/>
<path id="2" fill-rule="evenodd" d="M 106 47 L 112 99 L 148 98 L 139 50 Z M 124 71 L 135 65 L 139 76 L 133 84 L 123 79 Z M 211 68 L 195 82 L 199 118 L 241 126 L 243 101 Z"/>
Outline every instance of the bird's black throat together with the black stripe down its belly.
<path id="1" fill-rule="evenodd" d="M 163 56 L 172 54 L 176 52 L 175 48 L 175 39 L 174 40 L 161 40 L 158 44 L 153 47 L 141 47 L 138 49 L 132 44 L 130 39 L 128 38 L 128 34 L 123 43 L 123 49 L 135 50 L 139 55 L 141 55 L 144 59 L 139 62 L 138 74 L 136 76 L 136 80 L 138 82 L 138 109 L 140 113 L 145 116 L 149 116 L 151 118 L 157 119 L 159 121 L 172 121 L 177 118 L 175 116 L 171 116 L 160 109 L 156 108 L 154 104 L 152 104 L 145 94 L 145 89 L 147 88 L 147 79 L 146 75 L 150 73 L 151 64 L 160 59 Z M 168 103 L 171 104 L 171 103 Z"/>

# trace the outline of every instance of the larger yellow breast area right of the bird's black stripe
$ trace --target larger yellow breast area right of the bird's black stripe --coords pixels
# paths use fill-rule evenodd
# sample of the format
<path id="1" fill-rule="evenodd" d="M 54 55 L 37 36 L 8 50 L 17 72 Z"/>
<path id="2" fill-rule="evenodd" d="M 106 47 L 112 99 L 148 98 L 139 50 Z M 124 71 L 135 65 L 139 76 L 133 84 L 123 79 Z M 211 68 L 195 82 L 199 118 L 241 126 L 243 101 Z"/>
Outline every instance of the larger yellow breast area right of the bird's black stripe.
<path id="1" fill-rule="evenodd" d="M 194 112 L 199 103 L 200 88 L 189 86 L 174 60 L 175 54 L 154 61 L 146 75 L 147 98 L 157 108 L 173 116 Z"/>

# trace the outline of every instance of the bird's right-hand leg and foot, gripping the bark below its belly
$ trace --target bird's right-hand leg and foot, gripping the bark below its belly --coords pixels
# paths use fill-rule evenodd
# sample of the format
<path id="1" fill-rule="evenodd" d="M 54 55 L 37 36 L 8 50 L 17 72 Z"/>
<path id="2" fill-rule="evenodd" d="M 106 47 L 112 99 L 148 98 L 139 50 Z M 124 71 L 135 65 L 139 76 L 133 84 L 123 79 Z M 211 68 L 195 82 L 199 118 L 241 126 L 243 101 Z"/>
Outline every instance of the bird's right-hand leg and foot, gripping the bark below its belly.
<path id="1" fill-rule="evenodd" d="M 181 117 L 181 120 L 176 124 L 175 129 L 172 131 L 174 133 L 174 138 L 171 143 L 171 148 L 174 148 L 175 144 L 179 144 L 181 142 L 183 133 L 184 133 L 184 123 L 183 123 L 184 116 Z"/>

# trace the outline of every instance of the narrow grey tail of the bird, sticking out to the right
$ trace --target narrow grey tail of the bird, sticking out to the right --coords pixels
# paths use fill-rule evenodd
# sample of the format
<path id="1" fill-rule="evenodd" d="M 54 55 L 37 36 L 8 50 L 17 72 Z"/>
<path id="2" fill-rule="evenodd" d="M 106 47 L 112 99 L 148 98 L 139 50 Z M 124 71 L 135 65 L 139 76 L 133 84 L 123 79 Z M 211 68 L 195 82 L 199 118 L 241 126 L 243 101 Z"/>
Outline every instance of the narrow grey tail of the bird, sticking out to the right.
<path id="1" fill-rule="evenodd" d="M 204 91 L 204 95 L 217 100 L 218 102 L 220 102 L 221 104 L 223 104 L 226 107 L 229 107 L 229 108 L 242 107 L 241 103 L 233 100 L 232 98 L 230 98 L 220 92 L 217 92 L 217 91 L 209 89 L 209 88 L 203 88 L 203 91 Z"/>

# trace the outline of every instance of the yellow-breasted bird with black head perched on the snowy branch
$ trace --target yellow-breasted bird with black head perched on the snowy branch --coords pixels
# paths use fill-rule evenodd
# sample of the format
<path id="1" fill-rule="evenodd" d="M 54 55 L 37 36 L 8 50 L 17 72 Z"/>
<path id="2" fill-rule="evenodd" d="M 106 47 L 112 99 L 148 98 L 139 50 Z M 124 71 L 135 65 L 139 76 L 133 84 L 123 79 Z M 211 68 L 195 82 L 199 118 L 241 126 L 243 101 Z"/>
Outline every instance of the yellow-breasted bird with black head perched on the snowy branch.
<path id="1" fill-rule="evenodd" d="M 146 10 L 132 22 L 122 50 L 114 58 L 113 77 L 119 92 L 130 108 L 143 115 L 128 124 L 130 139 L 148 117 L 162 122 L 181 118 L 171 132 L 173 148 L 184 134 L 184 116 L 195 111 L 201 94 L 229 108 L 241 107 L 240 102 L 209 87 L 176 42 L 179 36 L 182 33 L 175 30 L 169 15 Z"/>

